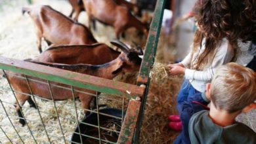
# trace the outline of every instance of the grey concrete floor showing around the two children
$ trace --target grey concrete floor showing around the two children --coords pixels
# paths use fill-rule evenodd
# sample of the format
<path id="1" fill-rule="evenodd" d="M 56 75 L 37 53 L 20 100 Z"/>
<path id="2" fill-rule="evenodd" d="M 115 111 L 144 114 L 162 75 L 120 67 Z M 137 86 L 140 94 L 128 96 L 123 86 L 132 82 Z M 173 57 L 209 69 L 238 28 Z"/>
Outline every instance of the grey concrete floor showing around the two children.
<path id="1" fill-rule="evenodd" d="M 179 1 L 181 8 L 179 9 L 179 16 L 182 16 L 183 14 L 186 14 L 189 12 L 194 3 L 195 0 L 181 0 Z M 190 45 L 192 44 L 192 39 L 194 35 L 193 31 L 194 27 L 194 20 L 188 20 L 186 22 L 183 22 L 181 26 L 179 26 L 179 31 L 177 33 L 177 60 L 182 60 L 186 54 L 188 54 L 190 50 Z M 251 129 L 256 132 L 256 110 L 251 111 L 249 113 L 243 113 L 238 116 L 237 121 L 243 122 L 247 126 L 249 126 Z"/>

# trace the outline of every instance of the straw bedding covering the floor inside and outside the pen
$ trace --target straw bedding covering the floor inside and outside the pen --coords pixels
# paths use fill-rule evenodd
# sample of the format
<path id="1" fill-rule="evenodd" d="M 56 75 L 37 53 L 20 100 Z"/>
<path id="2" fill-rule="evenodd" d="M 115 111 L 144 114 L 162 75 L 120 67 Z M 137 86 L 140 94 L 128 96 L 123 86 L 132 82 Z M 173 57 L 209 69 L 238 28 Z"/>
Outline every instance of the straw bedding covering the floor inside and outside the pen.
<path id="1" fill-rule="evenodd" d="M 1 3 L 1 2 L 0 2 Z M 71 7 L 66 1 L 39 1 L 39 3 L 47 4 L 51 3 L 54 9 L 69 14 Z M 27 14 L 22 16 L 20 9 L 21 6 L 26 5 L 26 1 L 12 1 L 8 5 L 0 7 L 0 16 L 2 18 L 0 24 L 0 55 L 7 56 L 9 58 L 16 58 L 24 60 L 26 58 L 35 58 L 39 52 L 35 45 L 35 31 L 33 28 L 32 20 Z M 65 7 L 59 7 L 64 5 Z M 84 18 L 83 18 L 84 17 Z M 83 24 L 87 24 L 85 13 L 83 12 L 79 16 L 79 21 Z M 102 43 L 108 43 L 114 39 L 114 29 L 112 27 L 105 27 L 97 23 L 98 30 L 93 31 L 96 39 Z M 108 37 L 106 37 L 108 33 Z M 135 41 L 140 45 L 144 45 L 146 39 L 143 37 L 137 37 L 135 29 L 129 29 L 126 35 L 127 41 Z M 148 98 L 146 102 L 146 111 L 142 124 L 142 130 L 140 132 L 140 143 L 171 143 L 177 133 L 168 130 L 167 128 L 167 116 L 175 111 L 175 96 L 179 90 L 182 76 L 171 76 L 168 75 L 167 63 L 172 63 L 175 60 L 175 48 L 171 47 L 169 43 L 169 37 L 165 35 L 160 36 L 158 43 L 158 51 L 156 54 L 156 62 L 152 67 L 150 73 L 150 90 L 148 92 Z M 46 48 L 44 44 L 43 49 Z M 164 63 L 164 64 L 163 64 Z M 1 100 L 9 103 L 14 103 L 15 99 L 12 96 L 12 92 L 5 78 L 2 77 L 3 73 L 0 71 L 0 97 Z M 115 81 L 123 81 L 131 84 L 136 84 L 137 73 L 129 73 L 118 76 Z M 107 103 L 110 107 L 120 108 L 121 104 L 114 105 L 110 100 L 106 100 L 106 96 L 100 99 L 100 103 Z M 52 143 L 64 143 L 63 135 L 60 131 L 58 124 L 58 118 L 56 117 L 56 111 L 52 102 L 37 99 L 37 105 L 39 105 L 40 111 L 45 111 L 52 115 L 41 113 L 43 122 L 50 136 Z M 127 108 L 127 100 L 125 100 L 125 109 Z M 16 111 L 12 104 L 3 103 L 9 117 L 11 118 L 16 130 L 19 132 L 21 137 L 25 137 L 23 140 L 25 143 L 34 143 L 33 138 L 30 135 L 31 128 L 33 135 L 39 143 L 45 143 L 48 141 L 45 134 L 41 119 L 38 115 L 37 109 L 30 108 L 28 103 L 24 105 L 22 111 L 29 120 L 28 126 L 22 127 L 16 115 Z M 60 122 L 64 131 L 66 139 L 70 139 L 74 132 L 76 122 L 76 115 L 74 108 L 70 109 L 70 105 L 74 105 L 72 100 L 56 101 L 57 111 L 60 115 Z M 81 103 L 77 101 L 77 107 L 81 107 Z M 4 113 L 2 105 L 0 106 L 0 112 Z M 77 113 L 79 120 L 83 118 L 83 111 L 79 109 Z M 3 130 L 7 130 L 7 135 L 15 143 L 22 143 L 12 128 L 8 117 L 0 114 L 0 126 Z M 9 140 L 0 130 L 0 143 L 9 143 Z M 66 141 L 68 143 L 68 141 Z"/>

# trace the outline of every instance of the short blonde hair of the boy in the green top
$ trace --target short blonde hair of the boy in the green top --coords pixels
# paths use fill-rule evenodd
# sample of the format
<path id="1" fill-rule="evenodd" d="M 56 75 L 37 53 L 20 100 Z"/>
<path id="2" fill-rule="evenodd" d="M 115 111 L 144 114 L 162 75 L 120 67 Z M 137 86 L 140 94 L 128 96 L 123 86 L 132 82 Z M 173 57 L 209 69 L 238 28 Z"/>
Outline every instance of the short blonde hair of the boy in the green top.
<path id="1" fill-rule="evenodd" d="M 217 109 L 241 111 L 256 99 L 256 73 L 237 63 L 227 63 L 215 73 L 210 94 Z"/>

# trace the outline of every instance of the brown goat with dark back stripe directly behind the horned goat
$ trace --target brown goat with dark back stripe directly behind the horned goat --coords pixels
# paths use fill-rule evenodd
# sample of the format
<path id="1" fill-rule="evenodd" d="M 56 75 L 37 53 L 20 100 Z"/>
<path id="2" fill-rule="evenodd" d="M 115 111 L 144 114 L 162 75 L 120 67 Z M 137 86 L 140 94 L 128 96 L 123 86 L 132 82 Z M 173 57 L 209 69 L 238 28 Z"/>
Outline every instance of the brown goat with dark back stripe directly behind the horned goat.
<path id="1" fill-rule="evenodd" d="M 48 48 L 41 53 L 35 61 L 99 65 L 116 59 L 119 54 L 120 52 L 113 50 L 108 45 L 102 43 L 96 43 L 93 45 L 65 45 Z"/>

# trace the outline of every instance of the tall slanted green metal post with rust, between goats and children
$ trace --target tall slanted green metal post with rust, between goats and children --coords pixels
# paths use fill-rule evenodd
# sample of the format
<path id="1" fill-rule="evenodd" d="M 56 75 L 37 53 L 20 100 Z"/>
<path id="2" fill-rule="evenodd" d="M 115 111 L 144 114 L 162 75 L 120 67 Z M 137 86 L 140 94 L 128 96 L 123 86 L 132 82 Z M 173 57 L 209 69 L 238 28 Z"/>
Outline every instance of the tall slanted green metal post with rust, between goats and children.
<path id="1" fill-rule="evenodd" d="M 148 88 L 150 86 L 150 69 L 154 64 L 154 59 L 156 57 L 156 50 L 158 46 L 158 39 L 161 31 L 161 22 L 163 20 L 163 10 L 165 6 L 165 0 L 158 0 L 156 3 L 156 8 L 154 10 L 154 17 L 150 25 L 150 32 L 148 40 L 146 43 L 146 50 L 144 52 L 142 64 L 140 66 L 140 71 L 137 79 L 137 84 L 144 84 L 146 90 L 142 96 L 142 105 L 140 107 L 140 114 L 137 122 L 137 128 L 135 135 L 133 137 L 133 143 L 139 143 L 140 128 L 142 127 L 142 120 L 144 116 L 144 109 L 146 107 L 146 99 L 148 95 Z"/>

